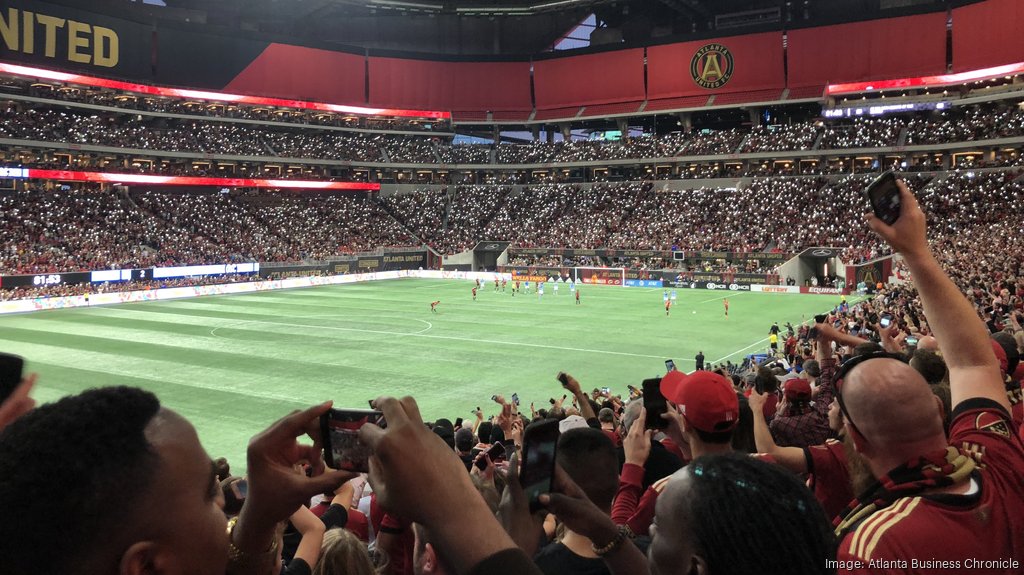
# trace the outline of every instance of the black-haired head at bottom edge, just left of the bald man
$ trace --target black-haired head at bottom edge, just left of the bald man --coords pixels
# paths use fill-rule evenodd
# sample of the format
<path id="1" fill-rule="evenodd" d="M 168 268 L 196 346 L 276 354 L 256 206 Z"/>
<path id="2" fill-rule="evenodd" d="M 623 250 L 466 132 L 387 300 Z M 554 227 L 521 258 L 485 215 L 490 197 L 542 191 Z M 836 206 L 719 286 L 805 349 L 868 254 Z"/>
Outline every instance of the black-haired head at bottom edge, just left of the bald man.
<path id="1" fill-rule="evenodd" d="M 708 455 L 676 472 L 657 498 L 651 531 L 652 575 L 821 573 L 836 552 L 807 487 L 745 454 Z"/>

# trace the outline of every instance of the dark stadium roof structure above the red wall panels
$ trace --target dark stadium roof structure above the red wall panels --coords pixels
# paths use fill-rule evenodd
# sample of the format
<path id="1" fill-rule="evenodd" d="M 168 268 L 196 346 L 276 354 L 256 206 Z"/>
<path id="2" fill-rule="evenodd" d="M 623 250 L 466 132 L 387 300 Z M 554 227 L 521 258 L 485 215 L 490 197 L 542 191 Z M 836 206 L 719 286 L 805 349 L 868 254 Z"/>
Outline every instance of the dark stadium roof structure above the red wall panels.
<path id="1" fill-rule="evenodd" d="M 52 0 L 97 11 L 132 10 L 231 33 L 305 43 L 453 56 L 535 55 L 588 20 L 589 42 L 639 45 L 685 36 L 935 11 L 979 0 Z"/>

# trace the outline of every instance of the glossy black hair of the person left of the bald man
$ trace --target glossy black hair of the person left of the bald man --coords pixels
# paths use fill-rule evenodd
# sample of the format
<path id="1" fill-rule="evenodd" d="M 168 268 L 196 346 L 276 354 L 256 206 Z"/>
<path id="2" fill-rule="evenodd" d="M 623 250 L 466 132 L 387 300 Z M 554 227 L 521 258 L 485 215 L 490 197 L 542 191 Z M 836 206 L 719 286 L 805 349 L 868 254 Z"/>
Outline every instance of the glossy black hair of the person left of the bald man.
<path id="1" fill-rule="evenodd" d="M 687 469 L 687 531 L 709 573 L 819 574 L 836 557 L 824 511 L 793 474 L 745 453 L 705 455 Z"/>

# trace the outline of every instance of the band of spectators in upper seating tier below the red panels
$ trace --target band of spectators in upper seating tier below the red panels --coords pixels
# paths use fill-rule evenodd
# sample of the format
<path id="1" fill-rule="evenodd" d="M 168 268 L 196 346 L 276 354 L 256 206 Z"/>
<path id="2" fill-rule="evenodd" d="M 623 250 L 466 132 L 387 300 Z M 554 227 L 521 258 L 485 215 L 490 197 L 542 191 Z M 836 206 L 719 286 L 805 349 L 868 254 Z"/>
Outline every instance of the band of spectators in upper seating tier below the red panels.
<path id="1" fill-rule="evenodd" d="M 1024 133 L 1022 119 L 1024 114 L 1016 108 L 977 106 L 940 117 L 858 118 L 835 123 L 809 121 L 759 126 L 753 130 L 705 129 L 689 133 L 640 135 L 617 141 L 452 145 L 427 136 L 289 130 L 271 125 L 153 118 L 7 102 L 0 110 L 0 137 L 106 145 L 143 149 L 151 153 L 180 151 L 382 164 L 486 165 L 494 160 L 497 165 L 557 165 L 788 151 L 815 149 L 816 146 L 822 150 L 891 147 L 899 143 L 904 133 L 907 145 L 973 141 L 1019 136 Z M 991 164 L 986 162 L 986 165 Z M 817 172 L 826 173 L 841 168 L 833 163 L 826 169 L 822 164 Z M 768 176 L 796 172 L 794 164 L 767 162 L 743 167 L 742 163 L 735 163 L 702 165 L 696 170 L 683 170 L 679 177 Z M 800 172 L 806 175 L 816 171 L 807 168 Z M 651 174 L 651 179 L 671 177 L 669 173 Z M 519 183 L 522 179 L 518 178 Z M 536 179 L 528 181 L 537 183 Z"/>

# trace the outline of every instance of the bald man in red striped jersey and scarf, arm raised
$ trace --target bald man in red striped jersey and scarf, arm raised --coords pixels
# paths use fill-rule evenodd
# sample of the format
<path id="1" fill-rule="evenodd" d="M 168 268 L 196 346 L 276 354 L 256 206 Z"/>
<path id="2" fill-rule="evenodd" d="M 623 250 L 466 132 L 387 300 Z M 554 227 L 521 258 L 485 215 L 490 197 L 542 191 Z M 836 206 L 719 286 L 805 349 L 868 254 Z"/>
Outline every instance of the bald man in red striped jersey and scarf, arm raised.
<path id="1" fill-rule="evenodd" d="M 837 373 L 857 498 L 836 524 L 830 566 L 849 573 L 1021 573 L 1024 444 L 988 330 L 930 252 L 925 214 L 902 182 L 900 215 L 868 225 L 903 256 L 949 369 L 948 438 L 925 379 L 876 353 Z M 876 479 L 878 478 L 878 479 Z"/>

